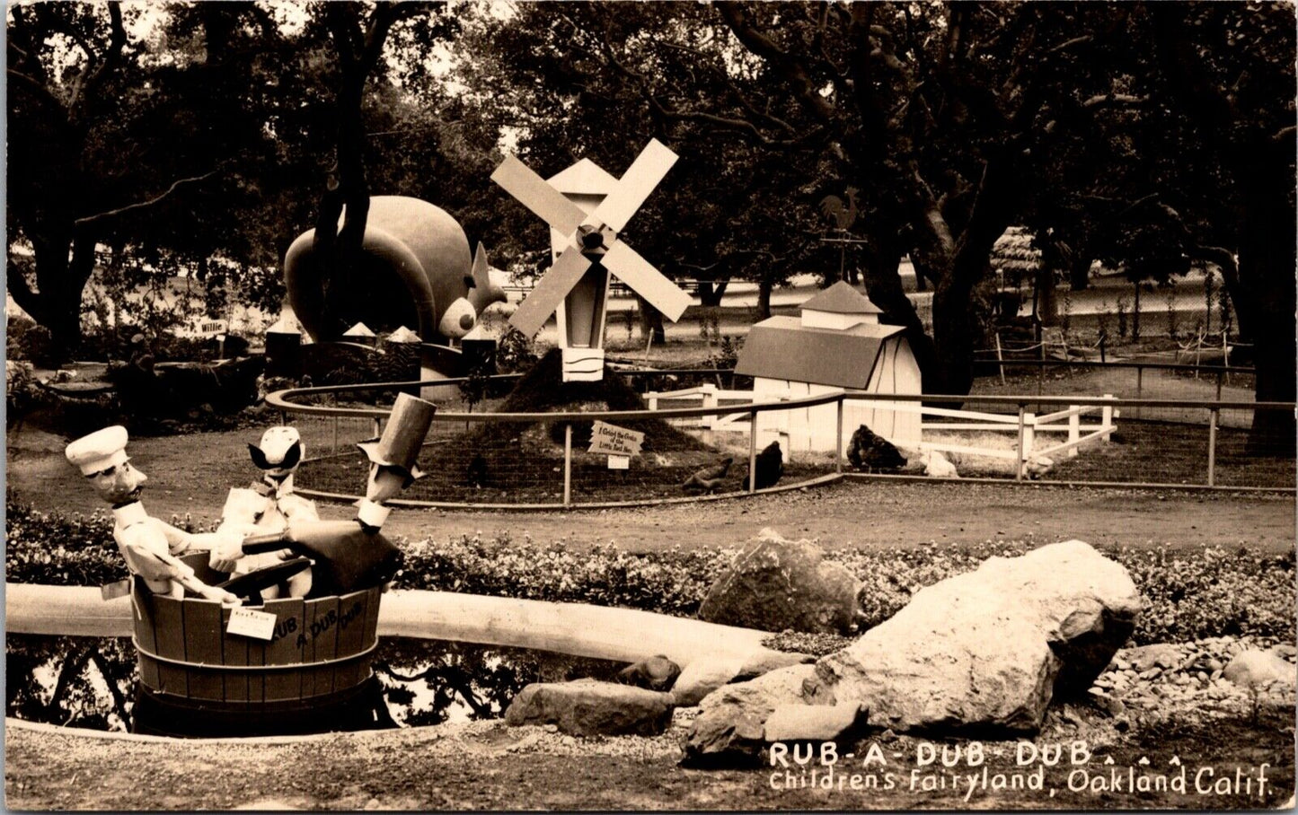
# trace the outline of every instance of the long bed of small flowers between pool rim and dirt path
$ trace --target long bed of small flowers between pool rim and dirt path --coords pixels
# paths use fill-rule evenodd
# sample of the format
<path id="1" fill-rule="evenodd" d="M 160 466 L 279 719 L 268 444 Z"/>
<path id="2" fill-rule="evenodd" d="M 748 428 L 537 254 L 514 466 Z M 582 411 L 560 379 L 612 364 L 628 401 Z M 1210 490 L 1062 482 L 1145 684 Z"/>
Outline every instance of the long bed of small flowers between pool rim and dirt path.
<path id="1" fill-rule="evenodd" d="M 13 583 L 100 585 L 125 576 L 112 519 L 40 513 L 6 501 L 5 579 Z M 186 522 L 178 519 L 182 524 Z M 1027 541 L 983 541 L 894 552 L 844 549 L 827 554 L 862 581 L 862 624 L 876 626 L 925 585 L 971 571 L 993 555 L 1023 554 Z M 613 544 L 569 549 L 509 536 L 462 536 L 408 542 L 397 588 L 434 589 L 627 606 L 674 615 L 698 611 L 711 581 L 736 549 L 680 546 L 630 553 Z M 1294 558 L 1240 548 L 1169 554 L 1164 548 L 1103 548 L 1136 580 L 1149 607 L 1133 644 L 1185 642 L 1214 636 L 1294 639 Z"/>

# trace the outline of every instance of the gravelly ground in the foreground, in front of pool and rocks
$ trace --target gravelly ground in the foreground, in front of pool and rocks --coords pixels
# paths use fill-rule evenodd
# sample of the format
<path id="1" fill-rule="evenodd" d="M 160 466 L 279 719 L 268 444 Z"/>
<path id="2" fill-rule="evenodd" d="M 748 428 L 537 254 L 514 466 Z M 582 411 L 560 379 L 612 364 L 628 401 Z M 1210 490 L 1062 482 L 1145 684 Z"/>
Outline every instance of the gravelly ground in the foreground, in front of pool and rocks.
<path id="1" fill-rule="evenodd" d="M 1085 741 L 1097 766 L 1102 757 L 1116 757 L 1116 764 L 1124 766 L 1137 764 L 1137 755 L 1155 754 L 1144 737 L 1151 732 L 1160 735 L 1153 745 L 1162 748 L 1160 763 L 1168 750 L 1186 760 L 1193 750 L 1198 764 L 1212 762 L 1220 768 L 1255 766 L 1260 755 L 1272 763 L 1277 797 L 1268 805 L 1277 806 L 1293 792 L 1292 689 L 1264 693 L 1255 711 L 1254 697 L 1242 688 L 1220 677 L 1197 677 L 1198 668 L 1212 659 L 1225 662 L 1246 646 L 1269 645 L 1228 637 L 1176 645 L 1159 654 L 1172 667 L 1145 679 L 1129 674 L 1132 663 L 1149 654 L 1121 650 L 1092 690 L 1096 698 L 1053 707 L 1033 744 Z M 1293 648 L 1281 649 L 1293 661 Z M 774 792 L 768 770 L 680 768 L 680 741 L 696 712 L 678 710 L 667 733 L 652 738 L 575 738 L 553 727 L 471 722 L 297 738 L 177 741 L 79 736 L 9 720 L 5 805 L 14 810 L 961 807 L 950 793 L 924 797 L 900 789 L 832 798 L 818 790 Z M 914 755 L 922 740 L 885 732 L 872 741 L 885 744 L 889 753 Z M 1018 742 L 996 741 L 985 748 L 989 764 L 997 768 L 1012 766 L 1019 749 Z M 901 770 L 909 766 L 903 762 Z M 1059 773 L 1055 780 L 1063 785 L 1064 770 Z M 1046 802 L 1019 790 L 980 794 L 974 806 L 1186 803 L 1195 806 L 1194 799 L 1141 802 L 1120 796 L 1106 805 L 1085 794 Z M 1246 796 L 1212 802 L 1221 809 L 1250 805 L 1256 802 Z"/>

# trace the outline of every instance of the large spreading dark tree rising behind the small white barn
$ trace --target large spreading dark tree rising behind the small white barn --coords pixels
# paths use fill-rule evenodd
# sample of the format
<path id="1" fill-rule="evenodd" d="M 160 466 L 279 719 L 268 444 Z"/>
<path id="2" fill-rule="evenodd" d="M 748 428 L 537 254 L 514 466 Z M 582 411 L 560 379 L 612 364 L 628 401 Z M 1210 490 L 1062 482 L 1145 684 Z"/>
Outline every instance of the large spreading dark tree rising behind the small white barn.
<path id="1" fill-rule="evenodd" d="M 504 27 L 522 32 L 519 70 L 545 78 L 552 109 L 556 97 L 575 99 L 578 108 L 600 103 L 601 118 L 622 117 L 610 101 L 619 100 L 659 130 L 742 143 L 801 175 L 778 189 L 750 176 L 750 199 L 729 210 L 778 213 L 774 240 L 770 222 L 754 232 L 781 254 L 800 231 L 809 249 L 815 202 L 855 187 L 871 298 L 906 326 L 927 392 L 967 392 L 992 245 L 1023 208 L 1036 156 L 1067 132 L 1046 122 L 1085 122 L 1081 112 L 1123 100 L 1115 79 L 1088 64 L 1102 53 L 1097 42 L 1120 36 L 1105 22 L 1108 9 L 645 5 L 530 4 Z M 550 16 L 565 25 L 546 27 Z M 935 284 L 932 337 L 901 286 L 905 253 Z"/>

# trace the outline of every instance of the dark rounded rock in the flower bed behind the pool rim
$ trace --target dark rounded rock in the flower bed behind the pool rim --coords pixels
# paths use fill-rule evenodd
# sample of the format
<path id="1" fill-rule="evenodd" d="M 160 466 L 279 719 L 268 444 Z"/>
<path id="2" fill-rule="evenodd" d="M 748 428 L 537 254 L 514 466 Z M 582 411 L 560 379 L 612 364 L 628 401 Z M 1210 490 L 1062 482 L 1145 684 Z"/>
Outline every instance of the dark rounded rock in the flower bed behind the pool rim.
<path id="1" fill-rule="evenodd" d="M 762 631 L 851 631 L 859 583 L 823 555 L 810 541 L 789 541 L 762 529 L 707 589 L 700 619 Z"/>

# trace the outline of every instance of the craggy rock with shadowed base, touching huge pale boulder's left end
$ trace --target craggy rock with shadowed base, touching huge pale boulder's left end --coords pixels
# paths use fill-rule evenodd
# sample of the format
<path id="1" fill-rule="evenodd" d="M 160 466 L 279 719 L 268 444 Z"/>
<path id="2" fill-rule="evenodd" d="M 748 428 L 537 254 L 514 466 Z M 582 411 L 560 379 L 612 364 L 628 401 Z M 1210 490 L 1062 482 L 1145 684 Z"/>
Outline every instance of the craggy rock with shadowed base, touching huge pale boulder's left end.
<path id="1" fill-rule="evenodd" d="M 681 763 L 689 767 L 755 764 L 765 744 L 766 719 L 781 705 L 805 703 L 811 690 L 809 683 L 815 683 L 815 666 L 794 664 L 707 694 L 691 724 Z"/>

